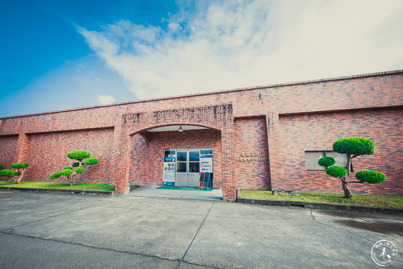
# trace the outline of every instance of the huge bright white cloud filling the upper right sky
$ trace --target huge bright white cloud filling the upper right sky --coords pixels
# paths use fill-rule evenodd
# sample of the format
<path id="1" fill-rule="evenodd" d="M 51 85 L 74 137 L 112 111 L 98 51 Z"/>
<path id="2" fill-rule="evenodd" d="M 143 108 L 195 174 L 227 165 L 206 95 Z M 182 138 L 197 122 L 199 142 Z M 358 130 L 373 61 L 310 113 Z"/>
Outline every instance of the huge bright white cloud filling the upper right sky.
<path id="1" fill-rule="evenodd" d="M 138 98 L 403 68 L 401 1 L 220 1 L 168 27 L 80 28 Z"/>

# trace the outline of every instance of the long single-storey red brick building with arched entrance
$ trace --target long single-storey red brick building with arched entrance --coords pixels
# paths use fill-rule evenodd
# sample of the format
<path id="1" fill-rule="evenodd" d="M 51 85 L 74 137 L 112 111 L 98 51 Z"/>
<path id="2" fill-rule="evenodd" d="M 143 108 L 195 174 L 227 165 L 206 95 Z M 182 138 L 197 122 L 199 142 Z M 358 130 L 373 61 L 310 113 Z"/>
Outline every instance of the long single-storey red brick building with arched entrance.
<path id="1" fill-rule="evenodd" d="M 225 200 L 236 188 L 342 193 L 311 158 L 360 136 L 375 154 L 354 159 L 354 171 L 388 180 L 351 184 L 353 193 L 403 196 L 402 89 L 398 70 L 0 118 L 0 163 L 28 162 L 24 180 L 50 181 L 71 164 L 69 151 L 83 149 L 100 163 L 77 182 L 126 193 L 129 182 L 162 185 L 164 156 L 176 156 L 175 185 L 183 186 L 211 158 Z"/>

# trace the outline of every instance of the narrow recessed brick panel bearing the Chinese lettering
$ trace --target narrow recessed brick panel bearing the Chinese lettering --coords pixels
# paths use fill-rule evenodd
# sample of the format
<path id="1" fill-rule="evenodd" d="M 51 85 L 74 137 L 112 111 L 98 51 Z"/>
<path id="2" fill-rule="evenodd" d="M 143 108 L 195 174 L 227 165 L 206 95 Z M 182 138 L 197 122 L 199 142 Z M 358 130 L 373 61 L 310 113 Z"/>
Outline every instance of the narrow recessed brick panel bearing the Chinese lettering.
<path id="1" fill-rule="evenodd" d="M 266 119 L 236 118 L 234 121 L 235 133 L 235 179 L 237 188 L 270 190 L 270 170 L 268 166 L 267 127 Z M 253 156 L 250 156 L 250 153 Z M 255 153 L 259 156 L 255 156 Z M 242 153 L 249 156 L 242 156 Z M 248 154 L 249 153 L 249 154 Z M 266 160 L 250 160 L 259 157 Z M 246 158 L 246 161 L 243 159 Z M 249 160 L 248 160 L 249 159 Z"/>

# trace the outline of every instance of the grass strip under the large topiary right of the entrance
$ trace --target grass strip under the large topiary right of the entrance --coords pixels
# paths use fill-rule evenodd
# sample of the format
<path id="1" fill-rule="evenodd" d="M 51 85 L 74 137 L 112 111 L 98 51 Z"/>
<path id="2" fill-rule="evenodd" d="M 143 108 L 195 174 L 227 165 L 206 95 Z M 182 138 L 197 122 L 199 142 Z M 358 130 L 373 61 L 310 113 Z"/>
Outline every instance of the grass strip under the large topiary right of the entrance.
<path id="1" fill-rule="evenodd" d="M 299 192 L 299 196 L 273 195 L 272 191 L 241 190 L 242 198 L 290 200 L 321 203 L 342 203 L 354 205 L 370 205 L 382 207 L 403 207 L 403 197 L 353 195 L 353 199 L 346 199 L 344 195 L 324 194 L 313 192 Z"/>

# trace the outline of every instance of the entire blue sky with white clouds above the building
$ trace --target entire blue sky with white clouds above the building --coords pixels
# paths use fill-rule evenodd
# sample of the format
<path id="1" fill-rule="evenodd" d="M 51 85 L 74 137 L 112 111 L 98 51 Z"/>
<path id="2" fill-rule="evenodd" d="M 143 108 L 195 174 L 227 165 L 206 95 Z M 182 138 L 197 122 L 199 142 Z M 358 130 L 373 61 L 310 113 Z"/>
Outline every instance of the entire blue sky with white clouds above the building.
<path id="1" fill-rule="evenodd" d="M 0 117 L 403 69 L 403 1 L 2 1 Z"/>

